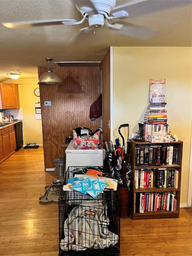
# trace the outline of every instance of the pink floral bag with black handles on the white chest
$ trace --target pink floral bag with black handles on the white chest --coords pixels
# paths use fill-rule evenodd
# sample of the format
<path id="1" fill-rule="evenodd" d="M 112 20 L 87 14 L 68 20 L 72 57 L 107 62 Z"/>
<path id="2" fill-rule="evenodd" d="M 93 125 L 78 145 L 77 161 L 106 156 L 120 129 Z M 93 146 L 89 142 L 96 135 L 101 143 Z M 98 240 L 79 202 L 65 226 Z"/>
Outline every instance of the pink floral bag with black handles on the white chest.
<path id="1" fill-rule="evenodd" d="M 84 127 L 86 128 L 86 127 Z M 98 129 L 95 132 L 91 131 L 90 135 L 79 134 L 80 130 L 83 129 L 81 127 L 73 130 L 73 148 L 74 149 L 98 149 L 101 146 L 100 134 L 101 131 Z"/>

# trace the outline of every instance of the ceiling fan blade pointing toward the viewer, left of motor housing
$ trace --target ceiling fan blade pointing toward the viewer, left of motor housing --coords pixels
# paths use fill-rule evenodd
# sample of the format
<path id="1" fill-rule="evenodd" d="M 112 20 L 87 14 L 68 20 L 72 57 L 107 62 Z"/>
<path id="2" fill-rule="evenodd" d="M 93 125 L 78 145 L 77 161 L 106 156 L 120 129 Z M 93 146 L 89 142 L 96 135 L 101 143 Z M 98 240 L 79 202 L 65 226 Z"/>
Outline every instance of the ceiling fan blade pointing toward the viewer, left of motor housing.
<path id="1" fill-rule="evenodd" d="M 98 14 L 98 11 L 91 0 L 73 0 L 73 2 L 75 2 L 76 8 L 80 12 L 85 12 L 89 15 Z"/>

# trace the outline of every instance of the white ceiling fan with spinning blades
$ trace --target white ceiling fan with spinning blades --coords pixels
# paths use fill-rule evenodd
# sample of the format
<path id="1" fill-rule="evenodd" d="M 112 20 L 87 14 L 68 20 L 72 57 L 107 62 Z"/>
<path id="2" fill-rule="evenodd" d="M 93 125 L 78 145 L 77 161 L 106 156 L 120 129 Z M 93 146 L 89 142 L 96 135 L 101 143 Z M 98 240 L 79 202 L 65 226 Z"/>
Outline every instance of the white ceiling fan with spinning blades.
<path id="1" fill-rule="evenodd" d="M 88 19 L 88 27 L 80 29 L 82 32 L 103 27 L 119 30 L 119 33 L 146 40 L 155 35 L 155 31 L 131 23 L 122 21 L 123 18 L 134 18 L 153 12 L 172 9 L 191 4 L 191 0 L 134 0 L 123 5 L 116 6 L 116 0 L 73 0 L 76 8 L 82 14 L 80 21 L 73 19 L 34 20 L 2 23 L 7 28 L 26 28 L 48 25 L 78 25 Z M 113 21 L 119 18 L 118 21 Z M 109 20 L 112 22 L 110 23 Z"/>

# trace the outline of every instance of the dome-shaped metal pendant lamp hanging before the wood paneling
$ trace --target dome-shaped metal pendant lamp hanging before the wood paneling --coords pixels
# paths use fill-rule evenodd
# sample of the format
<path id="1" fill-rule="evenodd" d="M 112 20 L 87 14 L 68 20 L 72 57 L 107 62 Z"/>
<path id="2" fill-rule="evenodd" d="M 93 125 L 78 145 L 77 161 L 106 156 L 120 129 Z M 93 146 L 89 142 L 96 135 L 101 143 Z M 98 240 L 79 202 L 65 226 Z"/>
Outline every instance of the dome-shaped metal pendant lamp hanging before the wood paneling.
<path id="1" fill-rule="evenodd" d="M 48 69 L 41 75 L 38 84 L 61 84 L 61 79 L 51 70 L 50 61 L 52 61 L 52 59 L 46 58 L 45 60 L 48 61 Z"/>

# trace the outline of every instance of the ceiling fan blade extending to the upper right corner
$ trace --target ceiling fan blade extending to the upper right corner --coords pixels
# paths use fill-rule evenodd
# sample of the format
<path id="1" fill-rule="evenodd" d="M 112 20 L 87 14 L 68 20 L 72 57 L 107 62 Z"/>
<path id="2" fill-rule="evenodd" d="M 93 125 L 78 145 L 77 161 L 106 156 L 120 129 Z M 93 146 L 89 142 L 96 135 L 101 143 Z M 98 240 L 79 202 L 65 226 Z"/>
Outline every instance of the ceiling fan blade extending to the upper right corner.
<path id="1" fill-rule="evenodd" d="M 116 6 L 110 14 L 115 16 L 116 12 L 126 11 L 129 14 L 128 17 L 133 18 L 189 4 L 191 4 L 191 0 L 135 0 Z"/>

